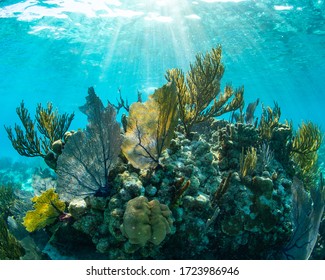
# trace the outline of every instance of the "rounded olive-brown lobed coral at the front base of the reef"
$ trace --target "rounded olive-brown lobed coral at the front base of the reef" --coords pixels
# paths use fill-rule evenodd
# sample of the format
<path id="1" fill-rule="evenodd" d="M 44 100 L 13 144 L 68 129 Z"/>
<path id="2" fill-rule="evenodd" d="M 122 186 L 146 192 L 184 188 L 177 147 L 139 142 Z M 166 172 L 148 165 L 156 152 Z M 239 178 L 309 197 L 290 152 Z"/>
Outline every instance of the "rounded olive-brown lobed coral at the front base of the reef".
<path id="1" fill-rule="evenodd" d="M 148 202 L 144 196 L 128 201 L 121 225 L 122 233 L 131 244 L 145 246 L 147 242 L 159 245 L 171 232 L 172 213 L 157 200 Z"/>

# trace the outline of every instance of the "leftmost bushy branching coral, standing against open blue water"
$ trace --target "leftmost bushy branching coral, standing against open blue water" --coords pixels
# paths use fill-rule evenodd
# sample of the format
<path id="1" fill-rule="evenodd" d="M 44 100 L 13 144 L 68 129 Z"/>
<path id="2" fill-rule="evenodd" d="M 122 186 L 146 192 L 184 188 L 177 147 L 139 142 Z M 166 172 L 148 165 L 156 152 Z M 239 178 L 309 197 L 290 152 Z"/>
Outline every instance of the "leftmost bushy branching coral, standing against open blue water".
<path id="1" fill-rule="evenodd" d="M 40 156 L 44 158 L 45 162 L 55 169 L 56 156 L 51 151 L 52 144 L 57 140 L 63 139 L 74 118 L 74 114 L 69 115 L 65 113 L 60 115 L 57 110 L 53 110 L 52 103 L 48 103 L 47 108 L 43 108 L 41 104 L 38 104 L 36 120 L 32 120 L 23 101 L 20 107 L 16 109 L 16 112 L 23 128 L 15 124 L 13 131 L 11 127 L 5 126 L 12 146 L 22 156 Z M 42 136 L 39 136 L 38 132 Z"/>

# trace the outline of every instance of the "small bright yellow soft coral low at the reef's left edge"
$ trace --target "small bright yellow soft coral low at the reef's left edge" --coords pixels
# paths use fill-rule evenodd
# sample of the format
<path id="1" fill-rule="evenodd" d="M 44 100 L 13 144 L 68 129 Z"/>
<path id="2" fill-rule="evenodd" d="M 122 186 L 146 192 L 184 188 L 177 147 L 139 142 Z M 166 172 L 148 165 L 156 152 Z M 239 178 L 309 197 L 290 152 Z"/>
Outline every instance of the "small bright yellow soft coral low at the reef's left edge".
<path id="1" fill-rule="evenodd" d="M 61 214 L 64 214 L 65 203 L 59 199 L 54 189 L 48 189 L 40 196 L 33 197 L 32 202 L 35 209 L 26 213 L 23 222 L 29 232 L 52 224 Z"/>

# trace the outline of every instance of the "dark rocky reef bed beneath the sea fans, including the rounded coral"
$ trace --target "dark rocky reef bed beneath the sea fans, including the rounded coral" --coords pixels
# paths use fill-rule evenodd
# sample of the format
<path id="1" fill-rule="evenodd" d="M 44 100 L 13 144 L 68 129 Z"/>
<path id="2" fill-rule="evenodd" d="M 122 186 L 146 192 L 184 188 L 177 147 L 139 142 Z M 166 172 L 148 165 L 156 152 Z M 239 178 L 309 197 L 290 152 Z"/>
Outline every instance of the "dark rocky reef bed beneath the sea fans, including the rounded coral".
<path id="1" fill-rule="evenodd" d="M 277 139 L 287 133 L 284 127 Z M 110 196 L 75 198 L 67 202 L 72 217 L 47 227 L 44 235 L 60 252 L 52 257 L 282 258 L 293 233 L 293 178 L 277 160 L 282 144 L 271 142 L 267 153 L 254 126 L 213 121 L 191 140 L 176 132 L 154 171 L 119 158 Z M 249 147 L 256 147 L 257 163 L 243 176 Z M 34 185 L 52 188 L 53 179 L 37 177 Z"/>

